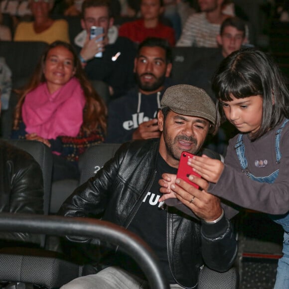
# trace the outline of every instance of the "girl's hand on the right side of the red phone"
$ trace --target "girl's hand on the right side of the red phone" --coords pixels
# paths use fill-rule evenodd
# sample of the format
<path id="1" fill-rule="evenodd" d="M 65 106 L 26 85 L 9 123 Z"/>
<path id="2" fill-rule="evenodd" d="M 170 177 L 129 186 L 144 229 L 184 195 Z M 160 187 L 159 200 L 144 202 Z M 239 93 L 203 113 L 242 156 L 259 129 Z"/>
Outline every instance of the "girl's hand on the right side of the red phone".
<path id="1" fill-rule="evenodd" d="M 188 164 L 204 179 L 216 183 L 224 169 L 224 164 L 218 159 L 210 158 L 206 155 L 189 158 Z"/>

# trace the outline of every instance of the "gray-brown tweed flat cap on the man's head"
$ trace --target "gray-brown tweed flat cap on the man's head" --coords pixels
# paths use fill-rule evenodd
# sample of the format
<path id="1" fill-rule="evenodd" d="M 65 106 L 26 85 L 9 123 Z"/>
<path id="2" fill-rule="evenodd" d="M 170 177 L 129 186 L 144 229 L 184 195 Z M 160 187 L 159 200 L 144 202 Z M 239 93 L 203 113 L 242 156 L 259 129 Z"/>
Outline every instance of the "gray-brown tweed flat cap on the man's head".
<path id="1" fill-rule="evenodd" d="M 180 84 L 167 88 L 160 107 L 169 107 L 177 114 L 200 117 L 216 124 L 216 106 L 213 100 L 203 89 L 192 85 Z"/>

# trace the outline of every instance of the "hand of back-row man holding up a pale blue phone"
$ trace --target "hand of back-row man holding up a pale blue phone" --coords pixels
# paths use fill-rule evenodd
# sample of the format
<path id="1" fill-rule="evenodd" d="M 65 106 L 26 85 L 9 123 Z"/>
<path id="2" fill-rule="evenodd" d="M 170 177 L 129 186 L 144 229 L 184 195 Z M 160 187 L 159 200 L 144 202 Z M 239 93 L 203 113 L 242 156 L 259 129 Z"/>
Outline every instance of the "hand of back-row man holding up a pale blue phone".
<path id="1" fill-rule="evenodd" d="M 84 60 L 88 61 L 94 58 L 96 53 L 103 52 L 105 50 L 106 40 L 97 41 L 101 37 L 105 37 L 105 34 L 99 34 L 93 39 L 89 39 L 89 34 L 87 34 L 83 48 L 80 51 L 80 55 Z"/>

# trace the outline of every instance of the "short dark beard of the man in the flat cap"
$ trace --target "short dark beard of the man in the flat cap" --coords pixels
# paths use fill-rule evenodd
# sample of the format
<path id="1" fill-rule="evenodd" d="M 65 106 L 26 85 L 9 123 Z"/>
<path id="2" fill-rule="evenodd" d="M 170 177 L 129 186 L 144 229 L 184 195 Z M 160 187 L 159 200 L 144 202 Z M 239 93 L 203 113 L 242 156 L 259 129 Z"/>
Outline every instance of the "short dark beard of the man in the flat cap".
<path id="1" fill-rule="evenodd" d="M 193 137 L 186 137 L 186 136 L 180 136 L 179 135 L 176 138 L 171 139 L 171 138 L 166 136 L 166 132 L 165 132 L 165 130 L 163 130 L 163 139 L 164 139 L 167 153 L 176 160 L 180 159 L 181 152 L 182 152 L 181 150 L 176 149 L 175 144 L 177 144 L 178 141 L 186 141 L 186 142 L 192 143 L 194 145 L 193 149 L 187 150 L 190 153 L 196 154 L 199 150 L 198 142 Z"/>

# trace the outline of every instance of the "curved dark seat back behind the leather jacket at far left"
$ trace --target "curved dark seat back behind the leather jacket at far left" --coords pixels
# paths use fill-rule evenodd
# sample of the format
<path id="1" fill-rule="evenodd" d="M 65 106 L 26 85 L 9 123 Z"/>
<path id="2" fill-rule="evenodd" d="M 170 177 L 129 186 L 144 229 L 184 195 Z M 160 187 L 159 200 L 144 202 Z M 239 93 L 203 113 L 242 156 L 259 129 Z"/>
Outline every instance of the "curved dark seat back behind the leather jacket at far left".
<path id="1" fill-rule="evenodd" d="M 7 143 L 17 146 L 30 153 L 39 163 L 43 174 L 44 196 L 43 210 L 48 214 L 52 176 L 52 152 L 51 149 L 40 142 L 28 140 L 6 140 Z"/>

